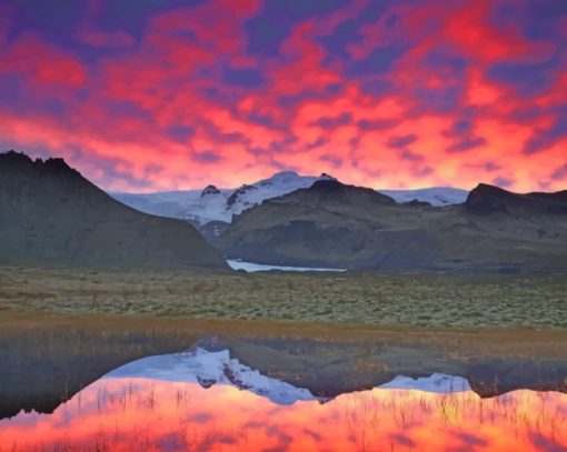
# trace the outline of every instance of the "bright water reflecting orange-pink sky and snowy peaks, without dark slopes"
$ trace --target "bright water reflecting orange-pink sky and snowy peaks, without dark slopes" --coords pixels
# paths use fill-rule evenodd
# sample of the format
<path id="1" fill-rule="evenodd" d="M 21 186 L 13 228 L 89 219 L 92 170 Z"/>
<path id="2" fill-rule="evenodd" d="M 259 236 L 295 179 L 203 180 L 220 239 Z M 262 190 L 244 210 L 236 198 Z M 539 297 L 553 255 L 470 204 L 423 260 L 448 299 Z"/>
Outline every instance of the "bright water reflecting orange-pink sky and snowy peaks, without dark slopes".
<path id="1" fill-rule="evenodd" d="M 197 349 L 126 364 L 52 414 L 0 421 L 0 451 L 34 450 L 566 451 L 567 394 L 481 399 L 434 374 L 324 399 Z"/>

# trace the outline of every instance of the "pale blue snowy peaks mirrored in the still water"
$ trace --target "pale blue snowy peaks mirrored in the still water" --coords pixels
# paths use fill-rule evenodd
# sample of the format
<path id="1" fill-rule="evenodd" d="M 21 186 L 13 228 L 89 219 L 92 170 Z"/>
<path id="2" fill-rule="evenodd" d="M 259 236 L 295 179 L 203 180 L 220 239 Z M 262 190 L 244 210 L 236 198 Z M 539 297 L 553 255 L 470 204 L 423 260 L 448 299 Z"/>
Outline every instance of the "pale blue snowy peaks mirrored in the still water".
<path id="1" fill-rule="evenodd" d="M 228 350 L 207 351 L 193 348 L 183 353 L 142 358 L 125 364 L 103 379 L 143 378 L 158 381 L 199 383 L 208 389 L 213 384 L 229 384 L 240 390 L 265 396 L 271 402 L 289 405 L 298 401 L 330 399 L 318 398 L 305 388 L 296 388 L 284 381 L 262 375 L 259 371 L 230 358 Z M 430 376 L 411 379 L 397 376 L 379 389 L 418 390 L 434 393 L 470 391 L 468 381 L 461 376 L 434 373 Z"/>

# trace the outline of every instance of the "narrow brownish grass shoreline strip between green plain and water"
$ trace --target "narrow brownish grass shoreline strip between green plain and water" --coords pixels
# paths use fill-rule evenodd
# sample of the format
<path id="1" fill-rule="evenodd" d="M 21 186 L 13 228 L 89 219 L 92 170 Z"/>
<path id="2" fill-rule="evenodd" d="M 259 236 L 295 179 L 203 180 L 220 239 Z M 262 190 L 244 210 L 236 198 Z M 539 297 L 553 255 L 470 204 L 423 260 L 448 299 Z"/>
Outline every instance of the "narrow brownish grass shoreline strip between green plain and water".
<path id="1" fill-rule="evenodd" d="M 219 335 L 261 339 L 307 339 L 334 343 L 418 343 L 458 349 L 459 354 L 540 356 L 567 360 L 567 330 L 534 328 L 435 328 L 367 325 L 281 320 L 192 319 L 125 314 L 62 314 L 0 311 L 0 339 L 27 332 L 130 334 L 182 341 Z M 189 346 L 187 343 L 186 346 Z M 182 349 L 182 348 L 181 348 Z M 180 349 L 180 350 L 181 350 Z"/>

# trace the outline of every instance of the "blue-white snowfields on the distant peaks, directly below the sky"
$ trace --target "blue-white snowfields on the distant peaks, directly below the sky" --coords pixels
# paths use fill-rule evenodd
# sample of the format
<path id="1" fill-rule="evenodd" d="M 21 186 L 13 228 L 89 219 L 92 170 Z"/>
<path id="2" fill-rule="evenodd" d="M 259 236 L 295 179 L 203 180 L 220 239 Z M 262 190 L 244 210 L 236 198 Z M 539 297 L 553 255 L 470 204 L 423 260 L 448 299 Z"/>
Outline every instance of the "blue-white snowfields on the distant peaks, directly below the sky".
<path id="1" fill-rule="evenodd" d="M 158 193 L 111 193 L 113 198 L 146 213 L 189 220 L 201 227 L 211 221 L 230 223 L 232 215 L 250 209 L 262 201 L 281 197 L 298 189 L 311 187 L 319 180 L 336 180 L 329 174 L 319 177 L 299 175 L 282 171 L 271 178 L 236 189 L 219 189 L 207 185 L 203 190 L 169 191 Z M 420 190 L 379 190 L 397 202 L 414 200 L 432 205 L 450 205 L 465 202 L 468 192 L 452 188 L 429 188 Z"/>

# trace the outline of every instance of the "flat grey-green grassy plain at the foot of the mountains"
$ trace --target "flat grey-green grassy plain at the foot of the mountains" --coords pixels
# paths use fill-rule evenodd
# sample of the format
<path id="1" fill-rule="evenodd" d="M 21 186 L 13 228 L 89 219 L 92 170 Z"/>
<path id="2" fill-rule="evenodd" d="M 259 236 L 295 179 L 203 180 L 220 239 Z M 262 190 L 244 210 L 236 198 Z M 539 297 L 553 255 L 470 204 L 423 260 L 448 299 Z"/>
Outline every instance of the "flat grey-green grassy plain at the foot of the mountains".
<path id="1" fill-rule="evenodd" d="M 567 278 L 111 272 L 0 267 L 0 311 L 567 329 Z"/>

